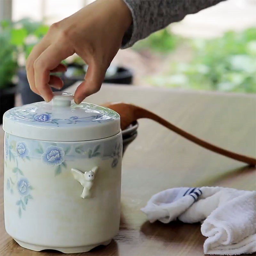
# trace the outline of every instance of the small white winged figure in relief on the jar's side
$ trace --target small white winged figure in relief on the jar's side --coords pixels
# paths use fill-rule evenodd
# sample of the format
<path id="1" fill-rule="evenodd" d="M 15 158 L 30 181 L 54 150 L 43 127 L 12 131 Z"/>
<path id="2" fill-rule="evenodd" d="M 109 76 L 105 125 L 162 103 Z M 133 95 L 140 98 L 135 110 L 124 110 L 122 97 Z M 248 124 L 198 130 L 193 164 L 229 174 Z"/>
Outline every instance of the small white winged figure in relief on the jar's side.
<path id="1" fill-rule="evenodd" d="M 80 184 L 84 187 L 81 197 L 82 198 L 90 198 L 91 191 L 93 185 L 93 180 L 95 178 L 95 174 L 98 171 L 98 167 L 95 166 L 91 171 L 81 172 L 75 168 L 71 169 L 71 172 L 74 178 L 80 182 Z"/>

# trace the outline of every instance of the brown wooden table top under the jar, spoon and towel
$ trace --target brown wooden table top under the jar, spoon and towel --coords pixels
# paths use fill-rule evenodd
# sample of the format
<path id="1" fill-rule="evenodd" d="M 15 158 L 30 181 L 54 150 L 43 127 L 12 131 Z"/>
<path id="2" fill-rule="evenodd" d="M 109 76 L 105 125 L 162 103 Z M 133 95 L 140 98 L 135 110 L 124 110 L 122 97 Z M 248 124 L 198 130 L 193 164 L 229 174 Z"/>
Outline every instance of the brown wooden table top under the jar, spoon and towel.
<path id="1" fill-rule="evenodd" d="M 74 90 L 74 86 L 69 89 Z M 253 95 L 103 85 L 101 91 L 87 101 L 135 103 L 216 145 L 250 156 L 256 154 Z M 153 194 L 173 187 L 225 186 L 253 190 L 255 169 L 205 150 L 151 120 L 140 120 L 138 132 L 123 159 L 120 231 L 107 247 L 78 255 L 203 255 L 205 237 L 199 224 L 150 224 L 140 208 Z M 6 234 L 2 152 L 3 133 L 0 255 L 62 255 L 54 251 L 26 250 Z"/>

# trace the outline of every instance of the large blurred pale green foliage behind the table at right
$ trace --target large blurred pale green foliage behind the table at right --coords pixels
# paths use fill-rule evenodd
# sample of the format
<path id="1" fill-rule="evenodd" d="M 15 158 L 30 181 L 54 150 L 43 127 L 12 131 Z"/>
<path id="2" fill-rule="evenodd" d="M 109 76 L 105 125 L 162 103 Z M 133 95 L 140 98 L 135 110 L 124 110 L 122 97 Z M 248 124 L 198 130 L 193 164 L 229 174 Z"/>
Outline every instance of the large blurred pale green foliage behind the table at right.
<path id="1" fill-rule="evenodd" d="M 172 63 L 169 72 L 151 76 L 157 86 L 226 92 L 256 92 L 256 28 L 192 40 L 189 63 Z"/>

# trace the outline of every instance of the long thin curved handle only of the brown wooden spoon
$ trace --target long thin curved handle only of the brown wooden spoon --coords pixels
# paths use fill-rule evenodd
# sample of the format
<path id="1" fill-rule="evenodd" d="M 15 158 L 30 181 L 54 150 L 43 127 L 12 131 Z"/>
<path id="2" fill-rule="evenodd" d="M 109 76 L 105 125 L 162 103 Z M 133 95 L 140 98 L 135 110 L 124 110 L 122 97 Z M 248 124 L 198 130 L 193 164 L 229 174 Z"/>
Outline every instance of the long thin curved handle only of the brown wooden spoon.
<path id="1" fill-rule="evenodd" d="M 140 118 L 141 117 L 144 117 L 144 118 L 149 118 L 149 119 L 152 119 L 156 122 L 158 122 L 159 124 L 162 124 L 164 125 L 166 128 L 172 130 L 173 132 L 176 132 L 178 134 L 180 134 L 182 137 L 190 140 L 190 141 L 193 141 L 194 143 L 196 143 L 197 145 L 203 147 L 203 148 L 207 148 L 215 153 L 218 153 L 220 155 L 223 155 L 223 156 L 227 156 L 229 158 L 232 158 L 232 159 L 235 159 L 235 160 L 238 160 L 238 161 L 241 161 L 241 162 L 244 162 L 244 163 L 247 163 L 247 164 L 250 164 L 252 166 L 255 166 L 256 165 L 256 159 L 255 158 L 252 158 L 250 156 L 244 156 L 244 155 L 241 155 L 241 154 L 237 154 L 235 152 L 232 152 L 232 151 L 229 151 L 229 150 L 226 150 L 226 149 L 223 149 L 223 148 L 220 148 L 218 146 L 215 146 L 205 140 L 201 140 L 199 138 L 197 138 L 196 136 L 188 133 L 188 132 L 185 132 L 183 131 L 182 129 L 180 129 L 179 127 L 169 123 L 168 121 L 166 121 L 164 118 L 160 117 L 160 116 L 157 116 L 156 114 L 144 109 L 144 108 L 140 108 L 140 107 L 136 107 L 136 116 L 137 118 Z"/>

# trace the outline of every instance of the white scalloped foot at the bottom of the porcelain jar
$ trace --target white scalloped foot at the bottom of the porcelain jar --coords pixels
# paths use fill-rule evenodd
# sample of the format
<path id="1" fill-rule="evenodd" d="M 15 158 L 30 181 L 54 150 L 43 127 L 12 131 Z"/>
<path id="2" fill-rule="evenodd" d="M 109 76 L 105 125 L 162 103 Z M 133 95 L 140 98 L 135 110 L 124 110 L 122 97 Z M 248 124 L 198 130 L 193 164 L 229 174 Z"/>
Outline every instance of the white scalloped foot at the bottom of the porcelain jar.
<path id="1" fill-rule="evenodd" d="M 13 238 L 14 239 L 14 238 Z M 51 247 L 51 246 L 42 246 L 42 245 L 36 245 L 36 244 L 28 244 L 25 242 L 22 242 L 18 239 L 14 239 L 21 247 L 24 247 L 26 249 L 32 250 L 32 251 L 42 251 L 42 250 L 56 250 L 63 253 L 79 253 L 79 252 L 88 252 L 91 251 L 93 248 L 99 246 L 99 245 L 108 245 L 110 244 L 111 240 L 108 240 L 103 243 L 99 244 L 91 244 L 87 246 L 77 246 L 77 247 Z"/>

